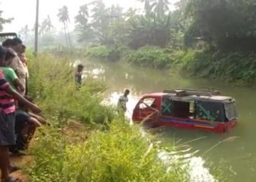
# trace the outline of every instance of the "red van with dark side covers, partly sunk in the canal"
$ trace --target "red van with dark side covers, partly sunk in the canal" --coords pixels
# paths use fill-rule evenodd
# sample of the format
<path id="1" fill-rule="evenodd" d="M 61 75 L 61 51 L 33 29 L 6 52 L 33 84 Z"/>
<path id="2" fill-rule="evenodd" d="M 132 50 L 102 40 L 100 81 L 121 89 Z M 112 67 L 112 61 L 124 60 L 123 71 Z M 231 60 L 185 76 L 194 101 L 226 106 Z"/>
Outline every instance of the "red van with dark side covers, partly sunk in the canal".
<path id="1" fill-rule="evenodd" d="M 150 122 L 154 127 L 227 132 L 236 125 L 238 114 L 236 100 L 217 90 L 176 89 L 143 95 L 134 108 L 132 121 Z"/>

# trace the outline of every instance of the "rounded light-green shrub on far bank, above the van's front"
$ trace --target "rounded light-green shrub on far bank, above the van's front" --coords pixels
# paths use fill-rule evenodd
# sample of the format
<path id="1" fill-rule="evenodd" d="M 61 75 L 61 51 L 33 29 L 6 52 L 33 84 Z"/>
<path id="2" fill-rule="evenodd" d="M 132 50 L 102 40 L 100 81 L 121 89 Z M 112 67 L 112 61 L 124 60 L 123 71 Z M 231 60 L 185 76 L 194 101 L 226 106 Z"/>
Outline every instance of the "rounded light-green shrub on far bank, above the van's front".
<path id="1" fill-rule="evenodd" d="M 159 69 L 167 68 L 173 63 L 170 56 L 158 47 L 142 47 L 140 50 L 132 52 L 127 60 L 138 66 Z"/>

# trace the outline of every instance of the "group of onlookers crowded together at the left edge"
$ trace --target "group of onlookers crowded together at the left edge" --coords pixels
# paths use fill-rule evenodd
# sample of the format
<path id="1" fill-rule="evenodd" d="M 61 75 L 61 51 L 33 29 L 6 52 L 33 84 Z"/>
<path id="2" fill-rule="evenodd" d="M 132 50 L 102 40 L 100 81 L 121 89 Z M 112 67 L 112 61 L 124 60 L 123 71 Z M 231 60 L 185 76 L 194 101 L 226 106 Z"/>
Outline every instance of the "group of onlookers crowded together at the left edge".
<path id="1" fill-rule="evenodd" d="M 37 127 L 45 119 L 28 96 L 29 70 L 26 46 L 19 38 L 6 39 L 0 46 L 0 169 L 1 181 L 12 182 L 10 152 L 25 150 Z"/>

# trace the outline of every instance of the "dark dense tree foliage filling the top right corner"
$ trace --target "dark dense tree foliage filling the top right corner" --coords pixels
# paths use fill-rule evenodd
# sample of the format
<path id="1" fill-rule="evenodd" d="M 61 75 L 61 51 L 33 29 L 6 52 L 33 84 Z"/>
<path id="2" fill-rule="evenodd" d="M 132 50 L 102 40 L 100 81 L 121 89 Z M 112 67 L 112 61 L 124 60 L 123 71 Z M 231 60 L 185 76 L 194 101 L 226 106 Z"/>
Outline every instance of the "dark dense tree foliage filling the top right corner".
<path id="1" fill-rule="evenodd" d="M 255 51 L 255 6 L 254 0 L 189 0 L 187 44 L 200 37 L 221 51 Z"/>

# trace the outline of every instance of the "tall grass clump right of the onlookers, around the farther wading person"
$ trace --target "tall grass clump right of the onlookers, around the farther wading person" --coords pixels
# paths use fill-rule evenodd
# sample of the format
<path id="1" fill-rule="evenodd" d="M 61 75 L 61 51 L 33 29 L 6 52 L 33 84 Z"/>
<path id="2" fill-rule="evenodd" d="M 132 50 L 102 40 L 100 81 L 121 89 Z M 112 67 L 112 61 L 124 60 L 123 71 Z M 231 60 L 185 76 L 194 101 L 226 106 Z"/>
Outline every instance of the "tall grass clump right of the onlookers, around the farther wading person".
<path id="1" fill-rule="evenodd" d="M 105 86 L 97 80 L 86 79 L 78 90 L 75 68 L 69 59 L 38 55 L 29 64 L 29 70 L 29 93 L 37 98 L 48 116 L 58 118 L 59 122 L 74 118 L 94 123 L 103 123 L 113 117 L 112 108 L 100 104 L 99 93 L 105 90 Z"/>

